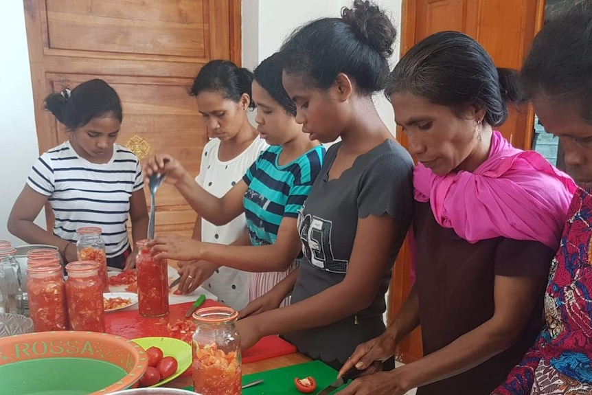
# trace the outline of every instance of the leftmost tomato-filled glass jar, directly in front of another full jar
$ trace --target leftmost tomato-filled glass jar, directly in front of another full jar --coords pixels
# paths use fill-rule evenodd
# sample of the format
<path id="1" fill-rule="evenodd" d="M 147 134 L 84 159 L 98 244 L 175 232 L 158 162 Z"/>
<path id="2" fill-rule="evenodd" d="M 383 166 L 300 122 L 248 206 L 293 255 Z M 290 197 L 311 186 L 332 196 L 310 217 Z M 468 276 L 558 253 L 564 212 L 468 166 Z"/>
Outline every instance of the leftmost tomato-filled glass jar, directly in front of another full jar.
<path id="1" fill-rule="evenodd" d="M 30 259 L 27 279 L 29 310 L 35 332 L 67 330 L 66 283 L 60 261 L 57 258 Z"/>

